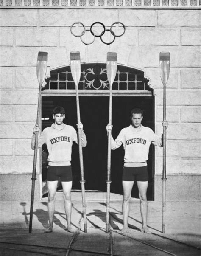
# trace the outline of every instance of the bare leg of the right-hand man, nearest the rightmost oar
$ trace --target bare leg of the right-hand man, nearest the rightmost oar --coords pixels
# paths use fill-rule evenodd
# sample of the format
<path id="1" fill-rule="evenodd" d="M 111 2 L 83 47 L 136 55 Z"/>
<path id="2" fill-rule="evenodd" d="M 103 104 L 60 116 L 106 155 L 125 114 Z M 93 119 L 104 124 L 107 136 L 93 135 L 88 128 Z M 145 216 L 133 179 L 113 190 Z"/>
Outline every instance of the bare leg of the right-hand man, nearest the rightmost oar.
<path id="1" fill-rule="evenodd" d="M 151 233 L 147 227 L 147 187 L 148 181 L 137 181 L 140 198 L 140 212 L 142 216 L 141 232 Z"/>

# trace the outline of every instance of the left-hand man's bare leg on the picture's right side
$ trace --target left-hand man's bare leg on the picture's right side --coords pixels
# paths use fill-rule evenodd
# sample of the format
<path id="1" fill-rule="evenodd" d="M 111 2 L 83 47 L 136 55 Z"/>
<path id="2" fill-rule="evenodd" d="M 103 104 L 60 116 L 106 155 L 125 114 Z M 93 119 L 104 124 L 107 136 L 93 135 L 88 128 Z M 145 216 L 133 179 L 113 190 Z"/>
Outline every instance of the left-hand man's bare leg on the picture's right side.
<path id="1" fill-rule="evenodd" d="M 70 198 L 70 191 L 72 188 L 72 181 L 62 181 L 63 194 L 64 194 L 64 202 L 65 202 L 65 212 L 66 212 L 66 220 L 67 226 L 65 230 L 68 232 L 75 232 L 71 227 L 71 211 L 72 211 L 72 203 Z"/>

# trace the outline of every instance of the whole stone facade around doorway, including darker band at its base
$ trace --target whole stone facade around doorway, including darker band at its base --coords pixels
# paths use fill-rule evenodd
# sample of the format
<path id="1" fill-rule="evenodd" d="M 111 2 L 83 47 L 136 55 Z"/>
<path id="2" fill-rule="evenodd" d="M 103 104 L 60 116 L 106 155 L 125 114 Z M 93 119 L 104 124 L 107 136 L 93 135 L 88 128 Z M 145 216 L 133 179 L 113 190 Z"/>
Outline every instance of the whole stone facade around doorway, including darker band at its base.
<path id="1" fill-rule="evenodd" d="M 104 65 L 107 52 L 117 52 L 118 65 L 142 72 L 150 90 L 114 89 L 113 96 L 121 94 L 133 97 L 133 101 L 138 97 L 139 102 L 139 97 L 152 97 L 152 124 L 157 134 L 162 133 L 163 118 L 159 53 L 170 52 L 166 90 L 167 200 L 199 200 L 201 12 L 197 0 L 1 0 L 0 8 L 1 200 L 31 198 L 33 151 L 30 139 L 36 122 L 39 51 L 48 52 L 50 74 L 70 66 L 71 51 L 79 51 L 82 65 L 89 65 L 89 68 L 90 64 Z M 121 22 L 126 27 L 125 34 L 116 37 L 110 45 L 101 42 L 100 37 L 86 45 L 70 31 L 73 23 L 83 23 L 89 31 L 82 39 L 90 42 L 93 39 L 90 26 L 97 21 L 106 28 Z M 114 30 L 121 33 L 121 24 L 116 25 Z M 82 28 L 80 25 L 74 29 L 75 33 L 80 33 Z M 112 34 L 106 33 L 104 40 L 112 40 Z M 107 97 L 108 93 L 101 88 L 80 90 L 83 98 Z M 75 92 L 46 87 L 42 91 L 42 99 L 54 96 L 70 97 L 75 96 Z M 39 158 L 40 155 L 41 152 Z M 153 153 L 153 166 L 152 200 L 162 200 L 160 148 Z M 36 176 L 35 198 L 39 200 L 42 197 L 41 161 L 38 161 Z"/>

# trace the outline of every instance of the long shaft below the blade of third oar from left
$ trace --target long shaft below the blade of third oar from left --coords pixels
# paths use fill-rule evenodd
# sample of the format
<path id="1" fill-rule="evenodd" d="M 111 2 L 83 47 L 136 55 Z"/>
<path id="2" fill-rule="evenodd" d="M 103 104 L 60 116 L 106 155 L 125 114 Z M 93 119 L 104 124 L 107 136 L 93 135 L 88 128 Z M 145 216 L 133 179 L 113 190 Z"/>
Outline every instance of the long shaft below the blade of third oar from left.
<path id="1" fill-rule="evenodd" d="M 112 125 L 112 85 L 109 92 L 109 124 Z M 106 206 L 106 233 L 109 232 L 109 201 L 111 183 L 111 130 L 108 131 L 108 153 L 107 153 L 107 206 Z"/>

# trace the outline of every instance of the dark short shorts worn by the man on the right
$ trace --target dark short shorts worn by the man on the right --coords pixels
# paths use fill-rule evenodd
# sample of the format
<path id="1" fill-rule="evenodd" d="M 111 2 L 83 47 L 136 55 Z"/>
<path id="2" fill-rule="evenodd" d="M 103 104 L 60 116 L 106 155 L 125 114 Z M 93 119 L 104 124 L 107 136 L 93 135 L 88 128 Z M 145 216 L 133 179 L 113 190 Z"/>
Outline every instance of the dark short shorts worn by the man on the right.
<path id="1" fill-rule="evenodd" d="M 148 181 L 147 166 L 123 167 L 122 180 L 125 181 Z"/>

